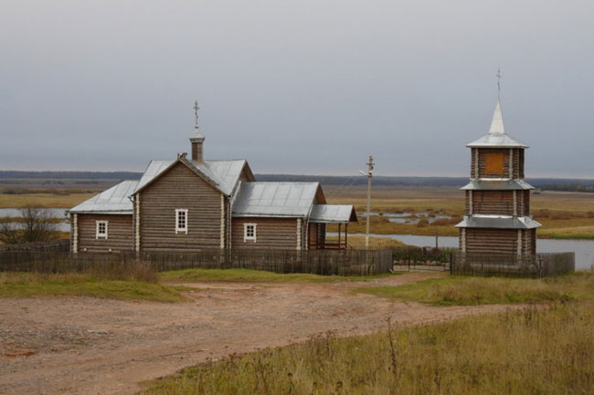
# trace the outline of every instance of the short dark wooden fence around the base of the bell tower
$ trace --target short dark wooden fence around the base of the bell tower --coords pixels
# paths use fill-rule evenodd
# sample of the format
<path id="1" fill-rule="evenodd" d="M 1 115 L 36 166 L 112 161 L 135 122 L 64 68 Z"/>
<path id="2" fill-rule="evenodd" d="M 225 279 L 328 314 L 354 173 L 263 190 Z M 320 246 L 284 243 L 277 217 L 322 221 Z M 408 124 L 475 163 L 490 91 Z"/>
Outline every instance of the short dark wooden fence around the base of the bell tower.
<path id="1" fill-rule="evenodd" d="M 505 255 L 457 253 L 451 263 L 452 275 L 502 275 L 545 277 L 564 275 L 576 267 L 575 253 Z"/>

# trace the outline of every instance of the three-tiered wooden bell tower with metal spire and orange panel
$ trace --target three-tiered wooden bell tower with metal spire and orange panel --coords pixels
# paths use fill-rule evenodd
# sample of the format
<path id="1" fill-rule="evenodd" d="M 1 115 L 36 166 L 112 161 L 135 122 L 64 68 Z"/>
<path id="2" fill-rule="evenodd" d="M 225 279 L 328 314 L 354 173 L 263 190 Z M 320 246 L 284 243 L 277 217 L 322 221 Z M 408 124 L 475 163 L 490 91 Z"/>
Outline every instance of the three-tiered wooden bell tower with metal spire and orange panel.
<path id="1" fill-rule="evenodd" d="M 461 253 L 536 255 L 536 228 L 530 215 L 530 192 L 525 182 L 523 142 L 504 130 L 497 99 L 489 133 L 466 145 L 471 149 L 471 181 L 460 228 Z"/>

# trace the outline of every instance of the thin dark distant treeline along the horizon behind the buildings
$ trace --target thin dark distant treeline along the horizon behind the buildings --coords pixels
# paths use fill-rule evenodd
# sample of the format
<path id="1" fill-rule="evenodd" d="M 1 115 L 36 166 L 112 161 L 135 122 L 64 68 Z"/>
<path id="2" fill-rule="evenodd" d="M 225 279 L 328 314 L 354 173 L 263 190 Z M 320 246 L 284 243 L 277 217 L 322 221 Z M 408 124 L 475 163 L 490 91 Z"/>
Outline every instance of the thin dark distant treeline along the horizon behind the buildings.
<path id="1" fill-rule="evenodd" d="M 9 179 L 61 179 L 61 180 L 138 180 L 140 172 L 17 172 L 0 171 L 0 183 Z M 323 185 L 366 185 L 364 175 L 295 175 L 295 174 L 256 174 L 258 181 L 265 182 L 320 182 Z M 549 191 L 594 192 L 594 180 L 532 178 L 526 180 L 533 186 Z M 383 177 L 373 179 L 377 186 L 462 186 L 468 177 Z"/>

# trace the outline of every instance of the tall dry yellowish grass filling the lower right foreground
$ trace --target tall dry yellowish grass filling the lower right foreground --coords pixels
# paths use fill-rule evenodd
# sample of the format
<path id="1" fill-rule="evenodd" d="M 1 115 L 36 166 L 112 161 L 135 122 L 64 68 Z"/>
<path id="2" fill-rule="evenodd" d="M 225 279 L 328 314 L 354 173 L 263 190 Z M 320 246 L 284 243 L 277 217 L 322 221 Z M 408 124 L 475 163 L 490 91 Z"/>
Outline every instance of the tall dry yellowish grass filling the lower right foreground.
<path id="1" fill-rule="evenodd" d="M 360 338 L 232 355 L 146 383 L 150 394 L 510 394 L 594 390 L 594 306 L 526 307 Z M 386 324 L 387 326 L 387 324 Z"/>

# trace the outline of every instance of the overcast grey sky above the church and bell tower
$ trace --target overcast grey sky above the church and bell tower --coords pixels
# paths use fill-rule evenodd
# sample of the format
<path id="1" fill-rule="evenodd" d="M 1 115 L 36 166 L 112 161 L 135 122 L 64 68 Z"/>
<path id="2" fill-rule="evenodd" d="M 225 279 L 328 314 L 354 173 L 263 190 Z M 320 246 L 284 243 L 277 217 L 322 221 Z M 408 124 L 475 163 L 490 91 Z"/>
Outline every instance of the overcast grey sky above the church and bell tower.
<path id="1" fill-rule="evenodd" d="M 466 175 L 502 68 L 528 176 L 594 178 L 591 1 L 0 2 L 0 169 Z"/>

